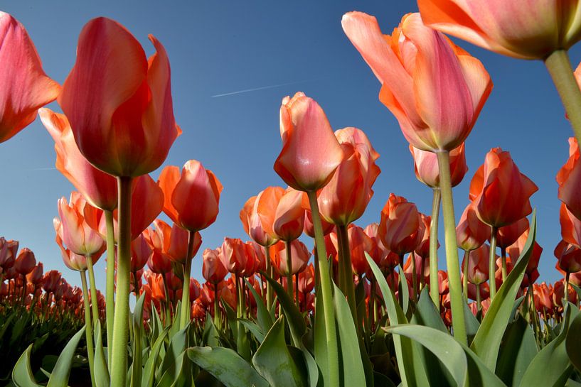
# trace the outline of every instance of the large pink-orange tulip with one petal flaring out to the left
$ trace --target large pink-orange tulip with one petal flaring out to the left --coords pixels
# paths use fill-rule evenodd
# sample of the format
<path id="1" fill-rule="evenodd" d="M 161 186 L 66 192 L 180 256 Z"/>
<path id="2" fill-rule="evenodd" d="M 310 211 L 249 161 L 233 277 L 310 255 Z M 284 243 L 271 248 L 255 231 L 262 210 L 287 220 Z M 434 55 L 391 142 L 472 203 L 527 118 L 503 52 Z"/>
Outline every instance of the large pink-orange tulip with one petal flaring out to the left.
<path id="1" fill-rule="evenodd" d="M 341 24 L 381 82 L 379 99 L 407 141 L 423 151 L 464 142 L 492 89 L 479 60 L 424 26 L 420 13 L 403 16 L 391 36 L 362 12 L 346 13 Z"/>

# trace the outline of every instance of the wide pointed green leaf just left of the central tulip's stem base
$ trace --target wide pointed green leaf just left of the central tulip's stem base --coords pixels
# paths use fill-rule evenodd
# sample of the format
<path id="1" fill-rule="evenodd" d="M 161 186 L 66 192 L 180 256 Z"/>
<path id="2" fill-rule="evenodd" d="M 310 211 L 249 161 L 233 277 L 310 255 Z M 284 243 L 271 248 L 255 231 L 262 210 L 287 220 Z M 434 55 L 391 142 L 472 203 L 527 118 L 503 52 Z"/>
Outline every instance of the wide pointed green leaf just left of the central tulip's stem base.
<path id="1" fill-rule="evenodd" d="M 252 356 L 252 364 L 272 387 L 307 386 L 305 375 L 287 349 L 283 317 L 279 317 L 268 331 L 264 342 Z"/>

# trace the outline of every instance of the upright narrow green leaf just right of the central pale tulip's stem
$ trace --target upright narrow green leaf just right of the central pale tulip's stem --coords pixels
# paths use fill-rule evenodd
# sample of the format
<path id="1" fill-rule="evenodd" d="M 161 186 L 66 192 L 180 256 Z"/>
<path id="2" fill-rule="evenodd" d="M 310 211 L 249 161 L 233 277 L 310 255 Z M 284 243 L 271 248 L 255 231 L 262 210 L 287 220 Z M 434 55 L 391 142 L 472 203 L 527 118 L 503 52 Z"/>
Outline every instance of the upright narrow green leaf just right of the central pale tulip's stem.
<path id="1" fill-rule="evenodd" d="M 365 385 L 366 375 L 363 369 L 362 356 L 357 340 L 357 331 L 351 316 L 351 310 L 345 295 L 334 285 L 333 301 L 335 304 L 335 318 L 337 322 L 337 333 L 339 334 L 339 344 L 341 349 L 341 361 L 343 366 L 343 386 L 363 386 Z"/>

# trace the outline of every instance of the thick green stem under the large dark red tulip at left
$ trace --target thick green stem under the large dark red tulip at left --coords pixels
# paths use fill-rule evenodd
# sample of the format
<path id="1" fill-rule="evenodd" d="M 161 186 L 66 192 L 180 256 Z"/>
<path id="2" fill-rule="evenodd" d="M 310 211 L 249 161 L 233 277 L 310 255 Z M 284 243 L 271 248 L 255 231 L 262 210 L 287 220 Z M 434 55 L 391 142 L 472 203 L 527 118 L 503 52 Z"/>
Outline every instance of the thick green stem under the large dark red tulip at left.
<path id="1" fill-rule="evenodd" d="M 117 245 L 117 297 L 113 322 L 111 386 L 126 387 L 127 342 L 129 341 L 129 273 L 131 270 L 132 178 L 117 178 L 119 190 L 119 239 Z"/>

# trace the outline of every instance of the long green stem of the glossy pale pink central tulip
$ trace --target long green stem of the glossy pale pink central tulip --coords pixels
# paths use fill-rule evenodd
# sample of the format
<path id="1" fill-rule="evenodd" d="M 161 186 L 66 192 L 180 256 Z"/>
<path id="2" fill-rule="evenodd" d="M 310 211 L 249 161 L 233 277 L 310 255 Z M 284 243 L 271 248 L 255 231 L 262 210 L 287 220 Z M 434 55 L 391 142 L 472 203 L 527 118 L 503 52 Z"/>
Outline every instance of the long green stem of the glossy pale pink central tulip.
<path id="1" fill-rule="evenodd" d="M 333 305 L 333 289 L 331 288 L 331 276 L 329 275 L 329 263 L 327 262 L 327 253 L 325 249 L 325 240 L 323 236 L 323 226 L 321 224 L 321 215 L 319 214 L 319 204 L 316 202 L 316 192 L 307 192 L 309 204 L 311 205 L 311 215 L 313 218 L 313 227 L 315 231 L 315 245 L 317 262 L 319 263 L 319 284 L 321 294 L 316 296 L 323 299 L 323 314 L 326 334 L 326 353 L 327 366 L 329 370 L 329 380 L 324 381 L 325 386 L 339 387 L 339 347 L 337 345 L 337 333 L 335 326 L 335 309 Z M 316 311 L 320 313 L 321 311 Z"/>

